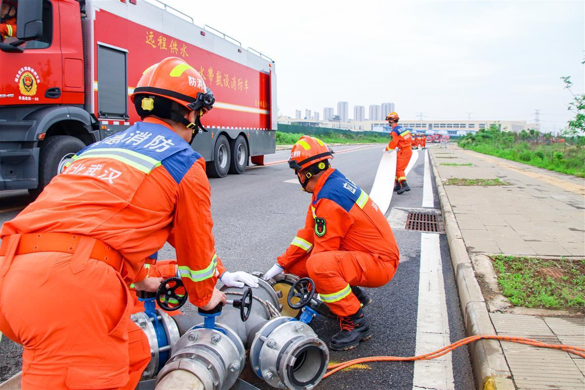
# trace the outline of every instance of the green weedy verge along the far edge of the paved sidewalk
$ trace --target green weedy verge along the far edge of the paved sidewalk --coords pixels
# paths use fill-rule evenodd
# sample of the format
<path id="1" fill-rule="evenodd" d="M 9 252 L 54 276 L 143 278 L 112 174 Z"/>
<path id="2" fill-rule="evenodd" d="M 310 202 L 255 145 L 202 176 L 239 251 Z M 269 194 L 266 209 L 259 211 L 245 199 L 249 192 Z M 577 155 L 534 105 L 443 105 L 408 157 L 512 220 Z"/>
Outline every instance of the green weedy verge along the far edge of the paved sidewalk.
<path id="1" fill-rule="evenodd" d="M 546 139 L 538 132 L 532 135 L 526 132 L 521 134 L 501 132 L 497 126 L 492 126 L 490 129 L 480 130 L 477 134 L 467 134 L 459 140 L 458 145 L 463 149 L 490 156 L 585 177 L 583 144 L 550 143 Z"/>

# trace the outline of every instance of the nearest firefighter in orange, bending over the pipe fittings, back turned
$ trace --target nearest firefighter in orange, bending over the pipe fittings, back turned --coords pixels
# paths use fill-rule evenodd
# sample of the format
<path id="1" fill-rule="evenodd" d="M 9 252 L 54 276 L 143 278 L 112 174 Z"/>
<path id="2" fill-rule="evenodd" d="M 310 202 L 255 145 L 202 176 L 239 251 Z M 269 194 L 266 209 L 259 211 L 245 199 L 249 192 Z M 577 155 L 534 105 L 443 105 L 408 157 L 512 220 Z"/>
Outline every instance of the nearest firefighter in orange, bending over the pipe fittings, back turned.
<path id="1" fill-rule="evenodd" d="M 24 346 L 23 389 L 135 388 L 150 347 L 127 285 L 156 291 L 144 263 L 166 241 L 191 303 L 226 301 L 205 161 L 190 146 L 214 95 L 169 57 L 132 101 L 143 122 L 78 152 L 0 230 L 0 331 Z"/>

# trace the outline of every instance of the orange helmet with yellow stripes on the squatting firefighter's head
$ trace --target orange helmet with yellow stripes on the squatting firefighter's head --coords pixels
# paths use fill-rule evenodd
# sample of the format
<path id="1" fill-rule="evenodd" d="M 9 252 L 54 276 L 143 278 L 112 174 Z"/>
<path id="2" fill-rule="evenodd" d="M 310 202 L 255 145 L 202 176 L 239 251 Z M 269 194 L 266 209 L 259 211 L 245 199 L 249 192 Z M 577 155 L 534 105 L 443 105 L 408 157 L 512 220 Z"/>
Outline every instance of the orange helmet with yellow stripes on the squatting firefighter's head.
<path id="1" fill-rule="evenodd" d="M 306 191 L 308 179 L 312 175 L 329 168 L 329 158 L 333 158 L 333 151 L 316 137 L 302 136 L 292 146 L 288 166 L 294 169 L 303 191 Z M 305 170 L 301 180 L 300 171 Z"/>

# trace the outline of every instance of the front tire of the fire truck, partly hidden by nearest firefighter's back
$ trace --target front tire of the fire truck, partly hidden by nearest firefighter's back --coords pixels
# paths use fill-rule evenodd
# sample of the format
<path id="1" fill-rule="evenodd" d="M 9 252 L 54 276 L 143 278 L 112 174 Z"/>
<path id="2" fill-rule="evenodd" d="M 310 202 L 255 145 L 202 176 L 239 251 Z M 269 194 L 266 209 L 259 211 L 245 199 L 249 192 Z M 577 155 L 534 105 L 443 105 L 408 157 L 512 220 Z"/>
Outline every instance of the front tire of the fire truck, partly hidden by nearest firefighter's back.
<path id="1" fill-rule="evenodd" d="M 38 196 L 63 170 L 67 160 L 84 147 L 80 139 L 71 136 L 52 136 L 44 140 L 39 153 L 39 187 L 29 189 L 29 193 Z"/>

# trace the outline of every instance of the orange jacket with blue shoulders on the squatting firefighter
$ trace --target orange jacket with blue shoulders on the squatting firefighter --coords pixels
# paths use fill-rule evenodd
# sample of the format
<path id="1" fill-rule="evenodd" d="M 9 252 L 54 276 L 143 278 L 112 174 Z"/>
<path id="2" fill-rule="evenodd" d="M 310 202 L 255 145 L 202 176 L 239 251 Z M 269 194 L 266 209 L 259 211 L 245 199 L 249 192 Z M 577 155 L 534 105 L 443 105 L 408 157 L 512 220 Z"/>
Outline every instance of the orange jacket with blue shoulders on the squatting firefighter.
<path id="1" fill-rule="evenodd" d="M 394 234 L 376 203 L 341 172 L 329 168 L 316 182 L 305 227 L 277 262 L 287 268 L 309 251 L 338 250 L 375 253 L 398 266 Z"/>

